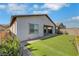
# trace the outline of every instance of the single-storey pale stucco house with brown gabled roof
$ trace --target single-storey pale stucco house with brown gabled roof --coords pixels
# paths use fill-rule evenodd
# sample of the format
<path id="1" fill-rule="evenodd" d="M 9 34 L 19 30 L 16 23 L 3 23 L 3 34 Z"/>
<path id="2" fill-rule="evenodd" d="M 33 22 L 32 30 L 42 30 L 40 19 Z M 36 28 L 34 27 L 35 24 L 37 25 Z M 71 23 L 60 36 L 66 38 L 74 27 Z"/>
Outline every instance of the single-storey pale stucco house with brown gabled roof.
<path id="1" fill-rule="evenodd" d="M 12 16 L 10 30 L 21 41 L 55 34 L 55 23 L 47 14 Z"/>

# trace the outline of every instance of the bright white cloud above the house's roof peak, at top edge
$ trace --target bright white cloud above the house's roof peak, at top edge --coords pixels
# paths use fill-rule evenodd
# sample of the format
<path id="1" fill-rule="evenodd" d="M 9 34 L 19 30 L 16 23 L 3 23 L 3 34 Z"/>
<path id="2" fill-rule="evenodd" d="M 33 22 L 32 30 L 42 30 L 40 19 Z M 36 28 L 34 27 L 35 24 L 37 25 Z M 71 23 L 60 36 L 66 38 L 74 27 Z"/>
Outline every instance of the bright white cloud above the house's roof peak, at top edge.
<path id="1" fill-rule="evenodd" d="M 66 4 L 66 3 L 46 3 L 43 5 L 42 8 L 47 8 L 47 9 L 57 11 L 63 7 L 69 7 L 69 4 Z"/>

